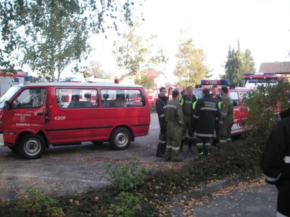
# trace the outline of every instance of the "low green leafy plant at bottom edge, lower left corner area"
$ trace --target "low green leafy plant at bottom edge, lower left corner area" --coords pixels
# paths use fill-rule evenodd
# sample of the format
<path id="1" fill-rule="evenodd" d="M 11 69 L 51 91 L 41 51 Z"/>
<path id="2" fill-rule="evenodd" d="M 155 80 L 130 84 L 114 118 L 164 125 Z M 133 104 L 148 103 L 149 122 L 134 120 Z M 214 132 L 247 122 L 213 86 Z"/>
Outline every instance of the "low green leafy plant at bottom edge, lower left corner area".
<path id="1" fill-rule="evenodd" d="M 25 205 L 28 216 L 37 217 L 64 217 L 62 208 L 57 207 L 58 201 L 46 196 L 40 189 L 33 189 L 33 194 Z"/>

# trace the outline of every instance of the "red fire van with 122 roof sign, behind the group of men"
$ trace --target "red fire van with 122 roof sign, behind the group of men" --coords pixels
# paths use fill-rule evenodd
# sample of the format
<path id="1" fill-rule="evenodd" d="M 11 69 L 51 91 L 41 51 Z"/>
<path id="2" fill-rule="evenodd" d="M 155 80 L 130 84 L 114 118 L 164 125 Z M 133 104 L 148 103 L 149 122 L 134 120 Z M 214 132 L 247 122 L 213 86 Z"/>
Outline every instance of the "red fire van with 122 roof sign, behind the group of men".
<path id="1" fill-rule="evenodd" d="M 247 115 L 249 114 L 248 109 L 243 105 L 243 94 L 253 90 L 252 88 L 245 88 L 245 87 L 234 87 L 229 85 L 228 79 L 222 80 L 202 80 L 201 84 L 197 86 L 196 89 L 193 90 L 193 94 L 196 95 L 198 98 L 202 97 L 202 90 L 207 88 L 212 92 L 213 85 L 220 85 L 220 86 L 229 86 L 228 88 L 228 95 L 233 100 L 233 116 L 234 116 L 234 124 L 231 129 L 232 135 L 237 135 L 245 132 L 245 129 L 242 128 L 240 125 L 244 120 L 246 120 Z M 218 87 L 219 94 L 220 88 Z"/>

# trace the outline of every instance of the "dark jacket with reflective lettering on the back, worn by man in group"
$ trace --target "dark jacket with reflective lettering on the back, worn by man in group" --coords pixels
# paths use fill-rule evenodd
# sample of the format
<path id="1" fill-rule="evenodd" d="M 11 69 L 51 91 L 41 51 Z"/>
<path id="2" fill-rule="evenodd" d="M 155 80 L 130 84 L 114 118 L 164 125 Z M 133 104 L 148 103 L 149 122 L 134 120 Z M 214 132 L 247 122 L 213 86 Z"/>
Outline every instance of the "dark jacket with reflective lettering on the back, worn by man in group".
<path id="1" fill-rule="evenodd" d="M 196 136 L 202 138 L 214 138 L 215 124 L 219 117 L 217 100 L 210 95 L 197 100 L 193 120 L 196 130 Z"/>

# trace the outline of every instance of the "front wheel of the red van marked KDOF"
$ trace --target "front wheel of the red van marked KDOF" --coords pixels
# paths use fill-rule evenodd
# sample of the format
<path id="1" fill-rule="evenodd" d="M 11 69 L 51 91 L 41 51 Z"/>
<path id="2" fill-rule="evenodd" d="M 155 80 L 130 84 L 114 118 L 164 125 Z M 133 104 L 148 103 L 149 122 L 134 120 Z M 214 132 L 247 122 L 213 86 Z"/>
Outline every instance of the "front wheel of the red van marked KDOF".
<path id="1" fill-rule="evenodd" d="M 26 159 L 36 159 L 40 157 L 45 149 L 45 143 L 41 136 L 37 134 L 26 134 L 20 140 L 18 152 Z"/>

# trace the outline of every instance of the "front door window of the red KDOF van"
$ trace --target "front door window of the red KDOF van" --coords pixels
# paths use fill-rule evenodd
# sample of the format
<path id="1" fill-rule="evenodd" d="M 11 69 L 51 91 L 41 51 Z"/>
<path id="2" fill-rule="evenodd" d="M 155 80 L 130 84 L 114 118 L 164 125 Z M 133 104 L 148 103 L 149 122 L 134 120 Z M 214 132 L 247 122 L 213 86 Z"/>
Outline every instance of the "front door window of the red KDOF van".
<path id="1" fill-rule="evenodd" d="M 45 88 L 30 88 L 22 91 L 11 104 L 11 108 L 35 108 L 44 103 Z"/>

